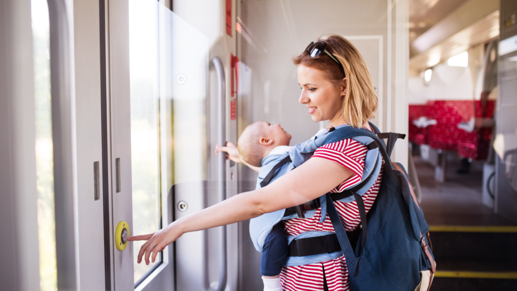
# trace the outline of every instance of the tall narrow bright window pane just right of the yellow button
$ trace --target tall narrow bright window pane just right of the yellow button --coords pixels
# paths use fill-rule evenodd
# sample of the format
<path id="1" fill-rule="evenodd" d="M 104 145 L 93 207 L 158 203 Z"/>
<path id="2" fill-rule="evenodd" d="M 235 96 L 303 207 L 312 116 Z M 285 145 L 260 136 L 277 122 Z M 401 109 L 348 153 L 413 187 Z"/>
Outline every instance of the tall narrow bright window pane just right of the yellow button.
<path id="1" fill-rule="evenodd" d="M 157 1 L 129 3 L 129 57 L 131 81 L 131 169 L 133 232 L 160 229 L 160 152 L 157 80 Z M 161 262 L 137 264 L 143 242 L 134 242 L 134 280 L 139 281 Z"/>

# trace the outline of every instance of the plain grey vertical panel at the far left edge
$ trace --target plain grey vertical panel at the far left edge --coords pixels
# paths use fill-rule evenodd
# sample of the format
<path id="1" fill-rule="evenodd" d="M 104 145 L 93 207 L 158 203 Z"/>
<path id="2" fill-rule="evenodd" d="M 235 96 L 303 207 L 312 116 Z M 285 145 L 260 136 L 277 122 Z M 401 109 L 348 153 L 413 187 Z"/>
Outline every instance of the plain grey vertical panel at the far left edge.
<path id="1" fill-rule="evenodd" d="M 31 1 L 0 2 L 0 288 L 39 290 Z"/>

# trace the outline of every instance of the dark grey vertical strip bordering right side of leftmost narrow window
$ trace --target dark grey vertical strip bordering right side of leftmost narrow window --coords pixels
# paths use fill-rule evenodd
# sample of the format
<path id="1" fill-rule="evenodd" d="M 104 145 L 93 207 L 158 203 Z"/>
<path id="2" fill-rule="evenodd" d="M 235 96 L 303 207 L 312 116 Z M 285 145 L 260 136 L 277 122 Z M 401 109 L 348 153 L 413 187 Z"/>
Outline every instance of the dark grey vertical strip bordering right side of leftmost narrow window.
<path id="1" fill-rule="evenodd" d="M 50 82 L 54 154 L 54 207 L 57 289 L 79 290 L 78 239 L 75 226 L 77 164 L 75 164 L 75 91 L 73 49 L 67 2 L 48 0 L 50 25 Z M 73 28 L 72 28 L 73 33 Z M 73 126 L 72 126 L 73 125 Z"/>

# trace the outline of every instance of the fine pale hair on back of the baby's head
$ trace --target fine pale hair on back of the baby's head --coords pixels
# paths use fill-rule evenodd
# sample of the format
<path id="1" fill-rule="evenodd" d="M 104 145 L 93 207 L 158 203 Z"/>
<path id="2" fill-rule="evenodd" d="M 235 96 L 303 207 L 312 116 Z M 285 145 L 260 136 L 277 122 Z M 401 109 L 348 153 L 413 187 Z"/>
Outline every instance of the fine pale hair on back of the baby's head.
<path id="1" fill-rule="evenodd" d="M 237 141 L 237 149 L 242 159 L 248 162 L 248 164 L 260 167 L 264 158 L 264 147 L 259 143 L 262 133 L 260 130 L 253 129 L 254 124 L 249 125 L 242 132 Z"/>

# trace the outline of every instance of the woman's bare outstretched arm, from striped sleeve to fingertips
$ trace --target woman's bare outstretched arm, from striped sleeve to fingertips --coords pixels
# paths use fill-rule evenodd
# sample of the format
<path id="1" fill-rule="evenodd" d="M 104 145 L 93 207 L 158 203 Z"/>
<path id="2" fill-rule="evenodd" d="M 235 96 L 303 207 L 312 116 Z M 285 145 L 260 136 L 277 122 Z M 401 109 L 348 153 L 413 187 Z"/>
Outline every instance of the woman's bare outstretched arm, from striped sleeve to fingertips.
<path id="1" fill-rule="evenodd" d="M 188 232 L 236 223 L 283 208 L 296 206 L 324 195 L 353 175 L 351 170 L 327 159 L 314 157 L 270 185 L 241 193 L 216 205 L 180 218 L 154 234 L 130 237 L 147 240 L 138 254 L 138 263 L 155 262 L 168 244 Z"/>

